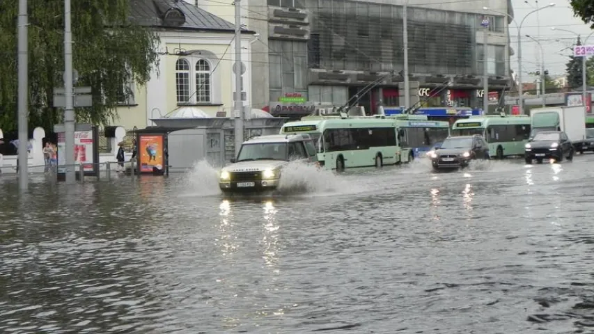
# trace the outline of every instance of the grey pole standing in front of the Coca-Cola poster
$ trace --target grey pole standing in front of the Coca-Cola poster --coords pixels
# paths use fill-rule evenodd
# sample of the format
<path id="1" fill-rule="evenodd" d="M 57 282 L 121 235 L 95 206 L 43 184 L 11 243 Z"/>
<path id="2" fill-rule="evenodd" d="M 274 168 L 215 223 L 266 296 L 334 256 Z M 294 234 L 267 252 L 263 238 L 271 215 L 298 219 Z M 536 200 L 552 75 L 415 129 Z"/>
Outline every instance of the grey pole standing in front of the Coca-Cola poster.
<path id="1" fill-rule="evenodd" d="M 76 182 L 75 174 L 75 107 L 72 81 L 72 27 L 70 22 L 70 0 L 64 0 L 64 132 L 66 154 L 66 183 Z M 83 177 L 83 175 L 80 175 Z"/>

